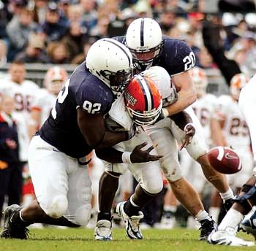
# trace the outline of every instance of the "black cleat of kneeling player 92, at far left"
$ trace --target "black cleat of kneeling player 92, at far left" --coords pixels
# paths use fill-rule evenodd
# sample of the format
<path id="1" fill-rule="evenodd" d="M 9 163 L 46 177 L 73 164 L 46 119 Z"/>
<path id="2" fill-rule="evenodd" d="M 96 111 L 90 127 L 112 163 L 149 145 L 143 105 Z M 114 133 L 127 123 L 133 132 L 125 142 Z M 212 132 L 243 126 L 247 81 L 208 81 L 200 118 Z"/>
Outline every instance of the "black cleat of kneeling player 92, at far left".
<path id="1" fill-rule="evenodd" d="M 12 219 L 16 212 L 20 212 L 21 207 L 18 205 L 7 206 L 4 210 L 4 229 L 0 233 L 1 238 L 5 239 L 28 239 L 28 224 L 15 223 Z"/>

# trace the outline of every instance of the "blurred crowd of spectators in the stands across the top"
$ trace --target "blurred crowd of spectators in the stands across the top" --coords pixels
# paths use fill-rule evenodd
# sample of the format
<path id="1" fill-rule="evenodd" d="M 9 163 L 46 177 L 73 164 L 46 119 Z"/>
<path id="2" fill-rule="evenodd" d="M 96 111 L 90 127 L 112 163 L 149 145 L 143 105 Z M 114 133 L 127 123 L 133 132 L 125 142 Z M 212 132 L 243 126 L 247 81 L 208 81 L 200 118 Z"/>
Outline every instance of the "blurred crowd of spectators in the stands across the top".
<path id="1" fill-rule="evenodd" d="M 224 47 L 227 56 L 249 71 L 255 69 L 256 14 L 203 14 L 214 2 L 232 10 L 228 1 L 217 0 L 0 1 L 0 65 L 13 60 L 80 63 L 95 40 L 123 35 L 133 19 L 151 17 L 165 35 L 189 43 L 197 66 L 217 67 L 203 43 L 208 20 L 219 30 L 217 45 Z"/>

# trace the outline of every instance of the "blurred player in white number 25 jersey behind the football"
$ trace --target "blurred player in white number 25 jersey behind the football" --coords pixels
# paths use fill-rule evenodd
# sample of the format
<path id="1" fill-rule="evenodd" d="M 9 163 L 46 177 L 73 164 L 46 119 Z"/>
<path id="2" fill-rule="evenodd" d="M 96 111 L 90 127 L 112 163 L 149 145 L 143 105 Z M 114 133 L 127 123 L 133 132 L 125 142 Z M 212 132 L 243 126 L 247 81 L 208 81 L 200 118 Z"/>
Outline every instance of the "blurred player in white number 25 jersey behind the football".
<path id="1" fill-rule="evenodd" d="M 253 158 L 250 151 L 250 137 L 244 116 L 238 107 L 241 88 L 249 79 L 245 74 L 236 74 L 230 81 L 230 95 L 218 98 L 216 115 L 212 120 L 213 138 L 216 145 L 232 147 L 241 158 L 243 169 L 239 174 L 227 175 L 230 185 L 235 191 L 240 190 L 252 174 Z M 220 213 L 219 221 L 224 215 Z"/>

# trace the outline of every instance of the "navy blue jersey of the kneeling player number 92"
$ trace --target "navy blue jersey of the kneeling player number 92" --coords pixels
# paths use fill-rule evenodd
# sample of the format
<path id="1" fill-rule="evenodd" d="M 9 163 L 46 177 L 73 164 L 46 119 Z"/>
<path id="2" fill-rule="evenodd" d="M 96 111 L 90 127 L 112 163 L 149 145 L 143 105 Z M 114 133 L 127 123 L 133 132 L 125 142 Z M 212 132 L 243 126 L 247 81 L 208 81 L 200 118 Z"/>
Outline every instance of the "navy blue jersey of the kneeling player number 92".
<path id="1" fill-rule="evenodd" d="M 91 114 L 101 112 L 105 115 L 113 101 L 110 88 L 91 74 L 83 62 L 59 93 L 56 105 L 39 130 L 39 135 L 72 158 L 82 158 L 92 149 L 78 126 L 78 107 Z"/>

